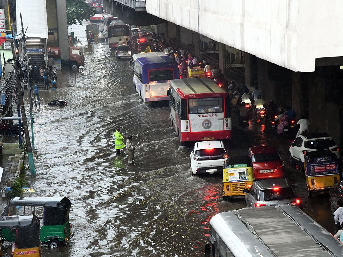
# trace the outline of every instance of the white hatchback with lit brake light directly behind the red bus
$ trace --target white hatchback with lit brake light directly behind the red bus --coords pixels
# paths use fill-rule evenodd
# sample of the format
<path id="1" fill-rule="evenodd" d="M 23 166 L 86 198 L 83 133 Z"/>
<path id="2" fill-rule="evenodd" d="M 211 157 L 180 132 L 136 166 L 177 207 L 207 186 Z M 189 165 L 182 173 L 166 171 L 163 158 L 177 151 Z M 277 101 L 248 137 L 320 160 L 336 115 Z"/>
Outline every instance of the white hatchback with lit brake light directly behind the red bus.
<path id="1" fill-rule="evenodd" d="M 223 141 L 202 141 L 194 145 L 190 155 L 192 175 L 223 172 L 227 152 Z"/>

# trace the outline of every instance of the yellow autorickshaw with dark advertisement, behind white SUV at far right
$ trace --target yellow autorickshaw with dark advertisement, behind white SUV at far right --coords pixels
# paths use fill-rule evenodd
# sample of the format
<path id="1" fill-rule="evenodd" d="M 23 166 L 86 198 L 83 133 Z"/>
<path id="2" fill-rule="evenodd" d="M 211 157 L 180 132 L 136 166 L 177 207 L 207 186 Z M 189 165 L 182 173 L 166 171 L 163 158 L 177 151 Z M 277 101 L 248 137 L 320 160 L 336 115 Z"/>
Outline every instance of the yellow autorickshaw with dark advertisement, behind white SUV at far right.
<path id="1" fill-rule="evenodd" d="M 308 197 L 337 186 L 340 174 L 335 154 L 330 151 L 309 151 L 304 157 Z"/>

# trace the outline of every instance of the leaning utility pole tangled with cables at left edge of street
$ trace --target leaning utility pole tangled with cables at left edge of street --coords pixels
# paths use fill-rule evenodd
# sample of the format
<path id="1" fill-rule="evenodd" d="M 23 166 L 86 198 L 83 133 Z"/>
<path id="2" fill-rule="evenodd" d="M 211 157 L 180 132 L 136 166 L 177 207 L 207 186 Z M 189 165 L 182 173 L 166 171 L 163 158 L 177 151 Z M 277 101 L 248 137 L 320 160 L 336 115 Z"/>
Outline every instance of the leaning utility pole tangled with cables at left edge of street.
<path id="1" fill-rule="evenodd" d="M 21 43 L 25 44 L 23 19 L 22 19 L 21 13 L 20 13 L 20 21 L 22 25 L 22 42 Z M 22 114 L 23 129 L 25 133 L 25 142 L 26 142 L 28 162 L 30 164 L 31 175 L 36 175 L 36 168 L 35 168 L 35 162 L 34 162 L 33 154 L 32 154 L 31 140 L 30 140 L 30 135 L 28 134 L 28 126 L 27 126 L 27 119 L 26 119 L 24 99 L 23 99 L 24 92 L 23 92 L 23 87 L 21 86 L 20 77 L 19 77 L 20 62 L 17 58 L 15 60 L 14 69 L 15 69 L 17 87 L 19 88 L 19 102 L 20 102 L 20 110 Z"/>

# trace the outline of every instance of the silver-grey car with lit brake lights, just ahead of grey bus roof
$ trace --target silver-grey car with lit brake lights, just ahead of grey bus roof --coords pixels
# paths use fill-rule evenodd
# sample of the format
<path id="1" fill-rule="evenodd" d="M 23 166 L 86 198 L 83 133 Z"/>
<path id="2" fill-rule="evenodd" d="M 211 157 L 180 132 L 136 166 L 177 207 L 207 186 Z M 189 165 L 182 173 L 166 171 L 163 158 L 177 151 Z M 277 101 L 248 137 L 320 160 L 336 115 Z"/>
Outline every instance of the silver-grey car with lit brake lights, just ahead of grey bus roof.
<path id="1" fill-rule="evenodd" d="M 303 209 L 300 199 L 296 197 L 293 188 L 286 179 L 265 179 L 252 183 L 250 190 L 244 189 L 246 207 L 265 205 L 293 205 Z"/>

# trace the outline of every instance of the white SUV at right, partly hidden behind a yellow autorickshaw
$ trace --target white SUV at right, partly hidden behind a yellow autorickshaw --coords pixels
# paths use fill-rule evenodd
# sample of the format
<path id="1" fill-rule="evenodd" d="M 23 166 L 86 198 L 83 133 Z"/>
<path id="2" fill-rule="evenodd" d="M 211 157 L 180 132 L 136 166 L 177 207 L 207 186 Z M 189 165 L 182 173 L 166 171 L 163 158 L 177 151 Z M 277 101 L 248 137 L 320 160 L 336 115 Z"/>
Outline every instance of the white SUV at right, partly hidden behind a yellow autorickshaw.
<path id="1" fill-rule="evenodd" d="M 304 167 L 304 154 L 307 151 L 316 151 L 328 149 L 337 155 L 337 158 L 341 158 L 338 145 L 328 133 L 316 133 L 299 135 L 293 143 L 289 144 L 289 157 L 292 164 L 298 163 L 301 167 Z"/>

